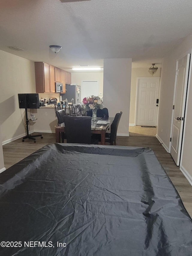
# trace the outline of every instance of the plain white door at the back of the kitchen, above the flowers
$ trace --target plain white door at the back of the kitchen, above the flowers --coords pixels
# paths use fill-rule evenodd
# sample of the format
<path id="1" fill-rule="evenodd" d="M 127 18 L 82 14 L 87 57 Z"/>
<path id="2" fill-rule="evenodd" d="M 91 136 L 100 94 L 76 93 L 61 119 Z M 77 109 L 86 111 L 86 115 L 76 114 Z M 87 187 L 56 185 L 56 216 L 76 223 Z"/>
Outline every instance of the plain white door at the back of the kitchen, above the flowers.
<path id="1" fill-rule="evenodd" d="M 81 101 L 83 98 L 89 97 L 91 95 L 99 95 L 98 81 L 82 81 Z"/>

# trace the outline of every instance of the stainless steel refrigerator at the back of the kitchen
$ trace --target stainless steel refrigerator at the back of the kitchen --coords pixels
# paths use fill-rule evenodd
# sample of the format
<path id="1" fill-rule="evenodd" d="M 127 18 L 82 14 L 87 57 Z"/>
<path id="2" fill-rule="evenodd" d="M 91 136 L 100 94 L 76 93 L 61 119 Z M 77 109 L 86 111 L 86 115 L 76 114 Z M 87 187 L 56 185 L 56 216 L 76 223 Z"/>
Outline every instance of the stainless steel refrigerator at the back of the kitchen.
<path id="1" fill-rule="evenodd" d="M 81 102 L 81 86 L 77 84 L 66 84 L 66 93 L 60 93 L 60 101 L 64 101 L 67 98 L 68 102 L 74 100 L 74 104 Z"/>

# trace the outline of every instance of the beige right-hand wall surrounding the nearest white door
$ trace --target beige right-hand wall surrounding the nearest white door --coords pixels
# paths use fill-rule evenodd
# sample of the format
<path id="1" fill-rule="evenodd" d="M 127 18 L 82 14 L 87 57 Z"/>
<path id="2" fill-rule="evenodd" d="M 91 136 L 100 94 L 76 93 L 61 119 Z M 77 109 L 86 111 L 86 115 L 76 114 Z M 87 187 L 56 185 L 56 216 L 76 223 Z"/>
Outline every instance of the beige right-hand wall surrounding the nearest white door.
<path id="1" fill-rule="evenodd" d="M 162 140 L 165 147 L 169 148 L 170 130 L 171 130 L 171 116 L 173 108 L 173 92 L 175 82 L 176 60 L 180 59 L 192 49 L 192 34 L 184 38 L 180 44 L 173 49 L 163 59 L 162 73 L 161 73 L 161 89 L 159 98 L 159 118 L 157 134 Z M 192 181 L 192 79 L 189 84 L 189 100 L 187 105 L 187 115 L 185 116 L 185 135 L 183 140 L 183 156 L 181 159 L 181 169 L 185 170 L 187 175 L 190 175 Z M 162 129 L 162 132 L 161 132 Z"/>

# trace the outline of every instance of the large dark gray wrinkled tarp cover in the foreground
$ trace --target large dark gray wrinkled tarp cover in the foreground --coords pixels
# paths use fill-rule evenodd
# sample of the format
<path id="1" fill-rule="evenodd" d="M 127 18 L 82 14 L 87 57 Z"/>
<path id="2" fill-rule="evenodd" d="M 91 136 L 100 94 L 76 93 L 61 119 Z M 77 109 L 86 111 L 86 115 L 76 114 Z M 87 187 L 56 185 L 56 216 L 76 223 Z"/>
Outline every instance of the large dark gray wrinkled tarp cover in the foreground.
<path id="1" fill-rule="evenodd" d="M 192 220 L 149 148 L 46 145 L 0 174 L 0 207 L 0 240 L 21 241 L 0 255 L 192 255 Z"/>

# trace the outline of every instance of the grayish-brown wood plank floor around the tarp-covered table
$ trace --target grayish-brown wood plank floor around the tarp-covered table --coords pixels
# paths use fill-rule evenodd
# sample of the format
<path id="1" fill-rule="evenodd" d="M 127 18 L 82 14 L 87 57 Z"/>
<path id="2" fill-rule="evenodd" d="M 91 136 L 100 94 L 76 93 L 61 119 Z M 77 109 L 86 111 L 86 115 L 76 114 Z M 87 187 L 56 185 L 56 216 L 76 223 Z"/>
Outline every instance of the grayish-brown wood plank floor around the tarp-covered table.
<path id="1" fill-rule="evenodd" d="M 3 146 L 5 168 L 7 169 L 13 164 L 16 164 L 46 144 L 55 143 L 55 134 L 44 133 L 42 135 L 44 138 L 41 139 L 38 137 L 36 139 L 36 143 L 28 139 L 25 140 L 25 142 L 22 142 L 22 139 L 18 139 L 5 144 Z M 117 146 L 150 147 L 155 152 L 160 164 L 178 191 L 187 212 L 192 217 L 192 186 L 187 181 L 183 173 L 179 170 L 179 167 L 176 166 L 171 155 L 166 152 L 156 137 L 118 136 L 116 139 L 116 144 Z"/>

